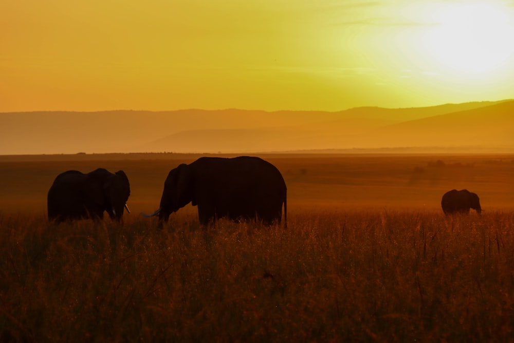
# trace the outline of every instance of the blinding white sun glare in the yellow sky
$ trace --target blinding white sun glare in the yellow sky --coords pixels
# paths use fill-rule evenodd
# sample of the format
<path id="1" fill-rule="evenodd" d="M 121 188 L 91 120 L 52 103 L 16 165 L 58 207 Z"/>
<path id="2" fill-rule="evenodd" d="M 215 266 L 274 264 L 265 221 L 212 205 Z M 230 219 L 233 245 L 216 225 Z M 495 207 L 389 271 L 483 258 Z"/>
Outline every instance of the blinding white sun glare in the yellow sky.
<path id="1" fill-rule="evenodd" d="M 491 77 L 510 67 L 514 55 L 512 8 L 492 2 L 443 5 L 432 13 L 435 22 L 427 48 L 447 73 Z"/>

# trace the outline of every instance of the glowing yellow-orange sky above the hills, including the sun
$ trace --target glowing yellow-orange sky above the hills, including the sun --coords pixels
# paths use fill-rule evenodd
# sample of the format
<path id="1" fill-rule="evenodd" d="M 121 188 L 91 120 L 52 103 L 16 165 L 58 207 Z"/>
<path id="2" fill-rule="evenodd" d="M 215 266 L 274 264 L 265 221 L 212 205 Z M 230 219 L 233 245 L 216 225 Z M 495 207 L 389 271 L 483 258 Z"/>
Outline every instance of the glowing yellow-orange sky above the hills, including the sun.
<path id="1" fill-rule="evenodd" d="M 0 112 L 514 98 L 512 1 L 5 0 Z"/>

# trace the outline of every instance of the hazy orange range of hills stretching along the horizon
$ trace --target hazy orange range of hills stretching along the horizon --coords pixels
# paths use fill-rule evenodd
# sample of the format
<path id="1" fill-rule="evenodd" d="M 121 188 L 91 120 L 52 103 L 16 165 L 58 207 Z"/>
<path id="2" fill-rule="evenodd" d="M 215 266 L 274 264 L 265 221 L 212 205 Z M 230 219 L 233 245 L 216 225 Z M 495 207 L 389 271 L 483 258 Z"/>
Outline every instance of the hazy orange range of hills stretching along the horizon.
<path id="1" fill-rule="evenodd" d="M 514 100 L 339 112 L 0 113 L 0 154 L 513 149 Z"/>

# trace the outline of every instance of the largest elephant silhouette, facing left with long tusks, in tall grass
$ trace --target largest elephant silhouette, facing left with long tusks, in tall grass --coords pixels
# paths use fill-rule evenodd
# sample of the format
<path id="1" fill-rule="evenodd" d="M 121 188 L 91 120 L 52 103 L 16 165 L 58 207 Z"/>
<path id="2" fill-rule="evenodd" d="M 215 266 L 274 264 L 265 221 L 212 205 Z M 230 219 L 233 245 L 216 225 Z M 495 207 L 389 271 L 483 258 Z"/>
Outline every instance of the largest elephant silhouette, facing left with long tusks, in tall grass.
<path id="1" fill-rule="evenodd" d="M 280 224 L 284 204 L 287 226 L 287 188 L 280 171 L 259 157 L 200 157 L 170 171 L 157 211 L 167 222 L 170 214 L 191 203 L 207 225 L 219 218 L 261 220 Z"/>

